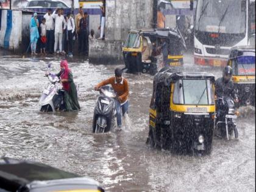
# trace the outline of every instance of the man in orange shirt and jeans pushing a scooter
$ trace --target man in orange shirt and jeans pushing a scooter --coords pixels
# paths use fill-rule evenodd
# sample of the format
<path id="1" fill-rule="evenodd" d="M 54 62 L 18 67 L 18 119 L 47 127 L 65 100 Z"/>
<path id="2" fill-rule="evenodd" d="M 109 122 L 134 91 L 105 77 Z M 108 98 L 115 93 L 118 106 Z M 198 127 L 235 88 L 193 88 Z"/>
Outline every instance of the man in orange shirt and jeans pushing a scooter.
<path id="1" fill-rule="evenodd" d="M 124 116 L 125 113 L 128 113 L 129 108 L 129 85 L 127 80 L 122 76 L 122 73 L 122 69 L 116 68 L 115 77 L 110 77 L 94 87 L 94 90 L 97 91 L 105 85 L 112 85 L 113 90 L 116 91 L 118 97 L 115 99 L 115 108 L 118 128 L 122 126 L 121 109 Z"/>

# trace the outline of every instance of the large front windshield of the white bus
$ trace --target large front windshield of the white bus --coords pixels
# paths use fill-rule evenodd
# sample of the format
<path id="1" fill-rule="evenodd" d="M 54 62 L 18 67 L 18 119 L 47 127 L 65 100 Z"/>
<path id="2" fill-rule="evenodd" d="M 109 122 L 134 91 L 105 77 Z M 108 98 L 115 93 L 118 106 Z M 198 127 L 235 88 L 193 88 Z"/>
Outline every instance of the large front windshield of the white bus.
<path id="1" fill-rule="evenodd" d="M 223 34 L 246 33 L 246 1 L 197 1 L 195 29 Z"/>

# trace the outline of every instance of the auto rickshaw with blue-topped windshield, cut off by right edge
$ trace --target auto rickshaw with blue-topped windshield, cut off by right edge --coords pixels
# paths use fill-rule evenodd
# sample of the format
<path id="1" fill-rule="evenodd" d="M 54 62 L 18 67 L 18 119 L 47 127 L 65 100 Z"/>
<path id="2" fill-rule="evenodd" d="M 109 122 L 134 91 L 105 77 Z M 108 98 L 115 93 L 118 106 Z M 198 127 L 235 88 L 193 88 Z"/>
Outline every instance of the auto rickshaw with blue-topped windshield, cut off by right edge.
<path id="1" fill-rule="evenodd" d="M 227 65 L 233 68 L 233 83 L 241 105 L 255 105 L 255 47 L 231 49 Z"/>

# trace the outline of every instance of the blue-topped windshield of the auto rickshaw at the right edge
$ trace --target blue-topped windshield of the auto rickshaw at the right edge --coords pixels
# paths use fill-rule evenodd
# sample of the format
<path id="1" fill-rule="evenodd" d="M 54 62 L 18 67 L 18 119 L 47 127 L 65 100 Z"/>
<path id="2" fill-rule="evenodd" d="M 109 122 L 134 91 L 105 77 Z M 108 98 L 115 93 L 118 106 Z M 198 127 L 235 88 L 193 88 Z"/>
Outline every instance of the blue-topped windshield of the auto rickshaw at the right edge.
<path id="1" fill-rule="evenodd" d="M 255 56 L 236 57 L 232 60 L 232 68 L 238 76 L 255 76 Z"/>

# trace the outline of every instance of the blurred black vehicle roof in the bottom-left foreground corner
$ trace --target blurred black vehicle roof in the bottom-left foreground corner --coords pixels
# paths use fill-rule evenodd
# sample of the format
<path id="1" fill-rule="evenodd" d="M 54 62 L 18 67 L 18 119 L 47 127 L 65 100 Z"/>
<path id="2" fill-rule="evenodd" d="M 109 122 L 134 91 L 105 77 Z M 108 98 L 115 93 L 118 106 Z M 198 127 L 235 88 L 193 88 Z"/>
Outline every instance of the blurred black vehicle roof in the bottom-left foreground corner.
<path id="1" fill-rule="evenodd" d="M 96 180 L 30 161 L 0 158 L 0 191 L 104 192 Z"/>

